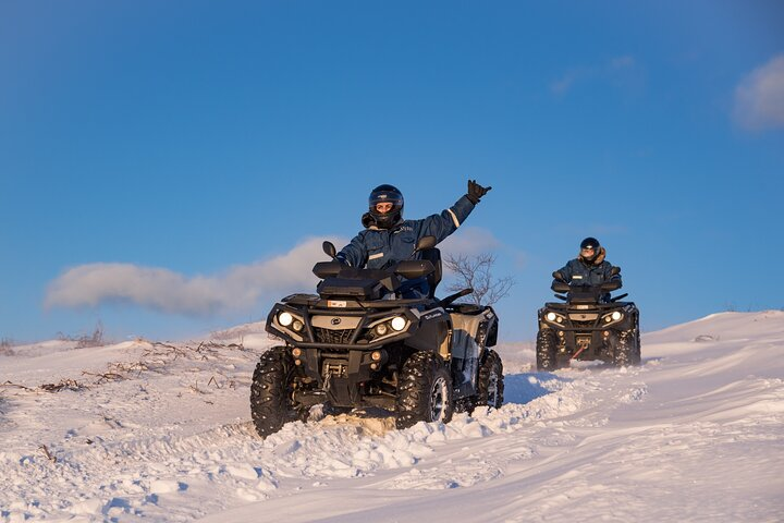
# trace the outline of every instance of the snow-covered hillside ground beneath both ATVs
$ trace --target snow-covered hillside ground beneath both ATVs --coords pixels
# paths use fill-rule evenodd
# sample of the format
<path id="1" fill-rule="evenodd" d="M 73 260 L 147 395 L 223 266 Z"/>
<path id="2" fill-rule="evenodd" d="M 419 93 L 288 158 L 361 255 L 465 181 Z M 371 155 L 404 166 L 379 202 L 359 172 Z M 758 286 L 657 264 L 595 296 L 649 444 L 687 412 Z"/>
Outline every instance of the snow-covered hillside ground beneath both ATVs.
<path id="1" fill-rule="evenodd" d="M 537 373 L 504 405 L 394 430 L 379 413 L 258 438 L 259 324 L 194 342 L 0 355 L 0 521 L 783 521 L 784 312 L 642 336 L 644 364 Z"/>

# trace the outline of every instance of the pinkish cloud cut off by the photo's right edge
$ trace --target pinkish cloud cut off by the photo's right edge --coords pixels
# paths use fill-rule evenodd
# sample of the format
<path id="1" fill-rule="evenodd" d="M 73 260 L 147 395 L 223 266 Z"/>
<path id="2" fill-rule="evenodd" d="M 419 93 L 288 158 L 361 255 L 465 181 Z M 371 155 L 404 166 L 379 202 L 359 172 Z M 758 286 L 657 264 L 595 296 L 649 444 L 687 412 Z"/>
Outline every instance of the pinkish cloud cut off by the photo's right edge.
<path id="1" fill-rule="evenodd" d="M 735 119 L 756 131 L 784 126 L 784 54 L 743 78 L 735 89 Z"/>

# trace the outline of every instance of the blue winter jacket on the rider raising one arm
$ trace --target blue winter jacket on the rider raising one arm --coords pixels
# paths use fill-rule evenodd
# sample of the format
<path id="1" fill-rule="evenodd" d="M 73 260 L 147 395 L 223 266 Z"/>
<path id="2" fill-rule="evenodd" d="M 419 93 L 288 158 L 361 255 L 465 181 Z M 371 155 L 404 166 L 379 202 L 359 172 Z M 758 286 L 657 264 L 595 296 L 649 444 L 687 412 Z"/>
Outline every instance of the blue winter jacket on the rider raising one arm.
<path id="1" fill-rule="evenodd" d="M 411 259 L 414 247 L 424 236 L 436 236 L 438 242 L 452 234 L 468 218 L 474 204 L 463 196 L 452 207 L 421 220 L 403 220 L 391 229 L 370 227 L 359 232 L 338 256 L 352 267 L 385 269 Z M 419 253 L 414 258 L 419 258 Z"/>

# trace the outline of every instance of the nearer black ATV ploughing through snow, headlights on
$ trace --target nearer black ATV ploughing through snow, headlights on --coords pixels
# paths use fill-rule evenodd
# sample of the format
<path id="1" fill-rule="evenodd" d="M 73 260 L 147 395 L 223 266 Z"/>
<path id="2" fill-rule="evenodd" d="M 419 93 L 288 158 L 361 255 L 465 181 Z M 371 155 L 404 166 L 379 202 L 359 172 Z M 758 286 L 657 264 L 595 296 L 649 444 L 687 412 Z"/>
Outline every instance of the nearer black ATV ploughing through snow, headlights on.
<path id="1" fill-rule="evenodd" d="M 498 338 L 492 307 L 454 303 L 465 289 L 434 297 L 441 280 L 436 239 L 387 270 L 320 262 L 318 294 L 293 294 L 277 303 L 267 331 L 285 344 L 260 357 L 250 388 L 250 412 L 261 437 L 286 422 L 306 419 L 313 405 L 330 410 L 380 408 L 395 413 L 397 428 L 443 422 L 456 411 L 501 406 L 503 367 L 489 346 Z M 428 295 L 403 299 L 401 285 L 422 278 Z"/>

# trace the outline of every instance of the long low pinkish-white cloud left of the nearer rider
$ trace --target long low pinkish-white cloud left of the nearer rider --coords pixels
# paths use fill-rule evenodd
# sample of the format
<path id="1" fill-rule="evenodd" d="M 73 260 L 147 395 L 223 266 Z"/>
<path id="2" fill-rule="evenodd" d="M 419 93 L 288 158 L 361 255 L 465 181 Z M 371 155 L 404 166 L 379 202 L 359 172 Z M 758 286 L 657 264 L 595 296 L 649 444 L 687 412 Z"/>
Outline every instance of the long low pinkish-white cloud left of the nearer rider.
<path id="1" fill-rule="evenodd" d="M 326 259 L 322 239 L 309 239 L 286 254 L 236 266 L 218 276 L 185 277 L 133 264 L 89 264 L 66 270 L 48 289 L 47 307 L 128 302 L 166 313 L 208 315 L 253 307 L 262 295 L 315 290 L 313 265 Z M 335 244 L 342 245 L 342 240 Z"/>

